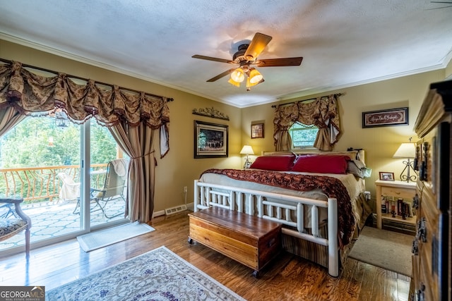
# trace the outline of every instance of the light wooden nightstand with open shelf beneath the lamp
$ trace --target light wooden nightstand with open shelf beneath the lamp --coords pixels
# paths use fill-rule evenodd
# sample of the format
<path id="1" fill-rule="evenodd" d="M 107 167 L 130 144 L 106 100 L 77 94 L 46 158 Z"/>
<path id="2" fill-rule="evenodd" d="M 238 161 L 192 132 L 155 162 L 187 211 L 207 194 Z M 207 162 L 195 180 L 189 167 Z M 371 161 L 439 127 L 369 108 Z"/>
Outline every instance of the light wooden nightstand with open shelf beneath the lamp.
<path id="1" fill-rule="evenodd" d="M 376 227 L 381 229 L 382 221 L 384 219 L 396 221 L 398 223 L 405 223 L 412 226 L 416 225 L 416 216 L 406 216 L 405 219 L 398 215 L 398 199 L 403 199 L 403 202 L 408 203 L 410 210 L 414 212 L 412 208 L 412 198 L 416 195 L 416 183 L 415 182 L 403 182 L 400 180 L 388 181 L 388 180 L 376 180 Z M 390 207 L 388 213 L 381 212 L 381 199 L 386 197 L 388 199 L 388 206 Z M 386 206 L 386 204 L 384 204 Z M 395 207 L 394 207 L 395 206 Z M 403 205 L 402 206 L 407 206 Z M 391 212 L 391 208 L 396 211 L 395 217 Z"/>

